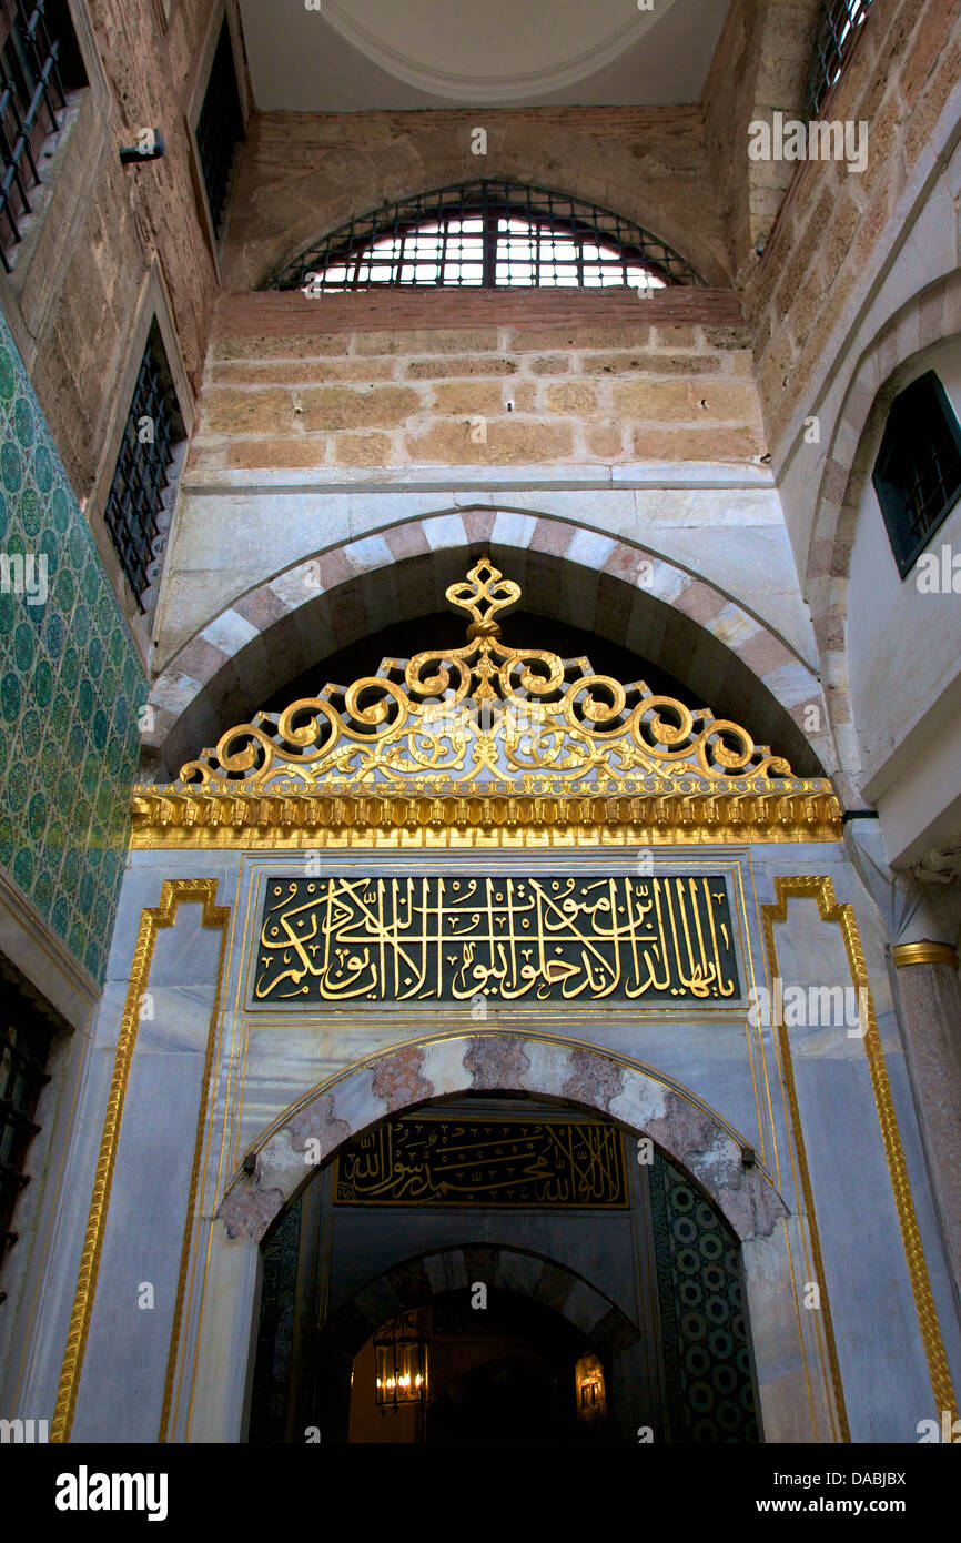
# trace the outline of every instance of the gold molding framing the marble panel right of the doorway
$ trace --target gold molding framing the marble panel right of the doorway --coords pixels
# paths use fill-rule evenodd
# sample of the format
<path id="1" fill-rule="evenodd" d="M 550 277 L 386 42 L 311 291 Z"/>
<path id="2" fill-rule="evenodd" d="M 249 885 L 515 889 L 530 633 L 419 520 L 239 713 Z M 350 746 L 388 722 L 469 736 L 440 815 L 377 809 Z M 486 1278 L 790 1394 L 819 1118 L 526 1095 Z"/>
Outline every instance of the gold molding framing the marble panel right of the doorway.
<path id="1" fill-rule="evenodd" d="M 821 876 L 791 875 L 788 878 L 776 878 L 774 893 L 777 895 L 776 904 L 760 907 L 760 915 L 764 923 L 764 943 L 768 955 L 768 963 L 771 967 L 771 977 L 774 978 L 781 974 L 777 967 L 777 949 L 774 944 L 774 924 L 787 921 L 788 900 L 791 898 L 816 900 L 821 920 L 836 921 L 839 924 L 841 935 L 844 938 L 844 947 L 847 952 L 848 967 L 851 972 L 851 983 L 855 989 L 858 991 L 864 989 L 865 992 L 862 998 L 867 1001 L 867 1034 L 864 1035 L 864 1049 L 867 1054 L 868 1069 L 872 1075 L 872 1086 L 875 1091 L 875 1105 L 878 1108 L 878 1120 L 881 1125 L 881 1136 L 884 1140 L 884 1154 L 887 1157 L 887 1167 L 892 1179 L 892 1190 L 895 1191 L 898 1225 L 901 1228 L 901 1241 L 904 1244 L 904 1253 L 907 1258 L 907 1271 L 912 1282 L 912 1293 L 915 1298 L 918 1324 L 921 1327 L 921 1341 L 924 1344 L 927 1370 L 932 1379 L 932 1390 L 935 1393 L 936 1409 L 952 1410 L 952 1420 L 956 1420 L 958 1404 L 950 1378 L 950 1370 L 947 1366 L 947 1356 L 944 1353 L 944 1339 L 941 1336 L 941 1324 L 938 1322 L 938 1310 L 935 1307 L 935 1298 L 930 1287 L 927 1262 L 924 1259 L 924 1245 L 921 1242 L 918 1216 L 915 1213 L 915 1200 L 912 1196 L 910 1180 L 907 1176 L 907 1163 L 904 1159 L 904 1148 L 901 1145 L 901 1134 L 898 1131 L 898 1116 L 895 1113 L 895 1102 L 892 1099 L 892 1088 L 887 1075 L 887 1066 L 884 1063 L 884 1048 L 881 1045 L 881 1034 L 878 1031 L 875 998 L 872 995 L 872 988 L 864 963 L 864 949 L 861 946 L 861 934 L 858 932 L 858 920 L 855 917 L 855 907 L 850 904 L 850 901 L 836 900 L 835 883 L 827 875 Z M 794 1120 L 797 1134 L 801 1137 L 797 1146 L 799 1146 L 801 1176 L 804 1187 L 804 1200 L 805 1207 L 808 1208 L 808 1217 L 811 1221 L 811 1250 L 814 1254 L 814 1265 L 819 1271 L 824 1290 L 825 1330 L 828 1336 L 831 1376 L 835 1379 L 835 1392 L 839 1398 L 839 1410 L 842 1412 L 844 1427 L 847 1430 L 847 1413 L 844 1412 L 844 1395 L 841 1389 L 841 1369 L 838 1364 L 838 1352 L 835 1345 L 835 1330 L 830 1321 L 830 1307 L 827 1307 L 824 1262 L 821 1256 L 821 1242 L 818 1237 L 818 1230 L 814 1222 L 814 1199 L 811 1190 L 811 1179 L 807 1167 L 807 1157 L 804 1153 L 801 1114 L 797 1106 L 797 1091 L 794 1085 L 794 1069 L 791 1063 L 788 1032 L 784 1023 L 779 1025 L 777 1035 L 784 1057 L 785 1083 L 788 1092 L 788 1103 L 791 1109 L 791 1119 Z M 845 1435 L 845 1440 L 850 1441 L 850 1433 Z"/>

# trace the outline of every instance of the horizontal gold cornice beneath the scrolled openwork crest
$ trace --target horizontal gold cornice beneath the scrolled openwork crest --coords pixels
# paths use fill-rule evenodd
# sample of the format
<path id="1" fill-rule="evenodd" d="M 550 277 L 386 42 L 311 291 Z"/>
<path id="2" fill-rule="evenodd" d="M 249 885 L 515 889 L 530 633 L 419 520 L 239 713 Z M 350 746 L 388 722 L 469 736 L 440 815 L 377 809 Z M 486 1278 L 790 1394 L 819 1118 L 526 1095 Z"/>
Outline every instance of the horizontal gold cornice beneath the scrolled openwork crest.
<path id="1" fill-rule="evenodd" d="M 134 850 L 250 850 L 258 847 L 498 846 L 628 839 L 642 846 L 839 841 L 841 804 L 830 792 L 634 793 L 588 788 L 580 796 L 492 795 L 483 784 L 466 796 L 372 795 L 350 784 L 329 795 L 137 787 Z"/>

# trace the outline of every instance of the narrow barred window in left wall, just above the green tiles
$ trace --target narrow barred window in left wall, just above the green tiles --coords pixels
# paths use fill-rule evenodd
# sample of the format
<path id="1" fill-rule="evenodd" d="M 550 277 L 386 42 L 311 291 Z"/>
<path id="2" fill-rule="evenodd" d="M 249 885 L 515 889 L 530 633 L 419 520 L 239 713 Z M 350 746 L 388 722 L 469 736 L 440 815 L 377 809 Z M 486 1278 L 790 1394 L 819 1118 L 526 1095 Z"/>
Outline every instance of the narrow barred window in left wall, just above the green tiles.
<path id="1" fill-rule="evenodd" d="M 140 613 L 159 576 L 174 469 L 187 438 L 157 321 L 151 322 L 103 518 Z"/>

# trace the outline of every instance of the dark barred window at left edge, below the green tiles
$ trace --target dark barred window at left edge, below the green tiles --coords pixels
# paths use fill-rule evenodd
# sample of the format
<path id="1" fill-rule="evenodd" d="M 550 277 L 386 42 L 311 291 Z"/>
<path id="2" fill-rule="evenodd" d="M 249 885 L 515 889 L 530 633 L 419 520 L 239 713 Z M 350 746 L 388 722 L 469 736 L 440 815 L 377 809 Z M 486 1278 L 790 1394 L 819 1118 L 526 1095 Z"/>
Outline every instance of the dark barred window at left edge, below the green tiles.
<path id="1" fill-rule="evenodd" d="M 0 1018 L 0 1262 L 17 1242 L 12 1228 L 17 1199 L 29 1183 L 26 1160 L 39 1133 L 34 1116 L 40 1092 L 49 1082 L 46 1060 L 52 1025 L 3 981 L 5 1015 Z M 5 1293 L 0 1291 L 0 1301 Z"/>

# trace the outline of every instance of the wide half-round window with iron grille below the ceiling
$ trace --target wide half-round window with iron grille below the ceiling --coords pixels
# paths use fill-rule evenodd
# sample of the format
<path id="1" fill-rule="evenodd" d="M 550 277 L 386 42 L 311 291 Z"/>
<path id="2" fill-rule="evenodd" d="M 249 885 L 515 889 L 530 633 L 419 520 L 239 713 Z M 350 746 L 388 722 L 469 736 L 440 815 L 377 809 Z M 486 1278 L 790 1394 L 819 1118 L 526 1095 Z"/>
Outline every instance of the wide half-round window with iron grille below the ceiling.
<path id="1" fill-rule="evenodd" d="M 270 289 L 659 289 L 706 281 L 673 247 L 612 210 L 548 188 L 480 181 L 356 216 L 307 247 Z"/>

